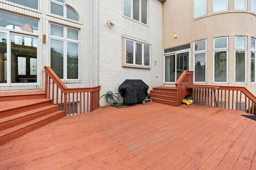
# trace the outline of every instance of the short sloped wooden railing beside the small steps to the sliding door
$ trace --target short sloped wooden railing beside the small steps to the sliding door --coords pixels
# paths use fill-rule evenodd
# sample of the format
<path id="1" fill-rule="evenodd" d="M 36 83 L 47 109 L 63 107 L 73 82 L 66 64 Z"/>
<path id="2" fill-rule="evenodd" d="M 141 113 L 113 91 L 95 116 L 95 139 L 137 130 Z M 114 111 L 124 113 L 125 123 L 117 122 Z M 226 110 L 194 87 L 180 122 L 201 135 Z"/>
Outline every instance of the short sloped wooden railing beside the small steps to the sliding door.
<path id="1" fill-rule="evenodd" d="M 177 103 L 176 106 L 180 106 L 185 96 L 192 93 L 191 88 L 186 88 L 188 85 L 193 84 L 193 71 L 184 71 L 176 81 L 175 85 L 177 88 Z"/>

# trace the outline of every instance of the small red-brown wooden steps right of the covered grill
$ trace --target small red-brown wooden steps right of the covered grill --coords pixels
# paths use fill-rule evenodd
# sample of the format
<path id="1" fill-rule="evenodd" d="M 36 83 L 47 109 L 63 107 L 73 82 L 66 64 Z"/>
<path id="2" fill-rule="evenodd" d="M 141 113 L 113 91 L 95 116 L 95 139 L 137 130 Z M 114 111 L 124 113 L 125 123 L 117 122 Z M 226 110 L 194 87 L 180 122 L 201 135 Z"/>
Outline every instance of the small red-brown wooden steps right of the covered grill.
<path id="1" fill-rule="evenodd" d="M 152 102 L 177 106 L 177 88 L 176 87 L 156 87 L 150 90 L 148 96 Z"/>

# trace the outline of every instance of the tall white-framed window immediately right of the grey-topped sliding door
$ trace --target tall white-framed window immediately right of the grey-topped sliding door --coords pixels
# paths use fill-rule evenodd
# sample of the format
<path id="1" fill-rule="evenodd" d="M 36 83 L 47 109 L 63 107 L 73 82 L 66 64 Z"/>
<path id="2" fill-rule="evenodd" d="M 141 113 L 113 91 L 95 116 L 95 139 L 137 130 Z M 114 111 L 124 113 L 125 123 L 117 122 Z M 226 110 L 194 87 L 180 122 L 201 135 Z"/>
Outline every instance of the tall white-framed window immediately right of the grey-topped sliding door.
<path id="1" fill-rule="evenodd" d="M 206 39 L 194 42 L 194 81 L 206 82 Z"/>

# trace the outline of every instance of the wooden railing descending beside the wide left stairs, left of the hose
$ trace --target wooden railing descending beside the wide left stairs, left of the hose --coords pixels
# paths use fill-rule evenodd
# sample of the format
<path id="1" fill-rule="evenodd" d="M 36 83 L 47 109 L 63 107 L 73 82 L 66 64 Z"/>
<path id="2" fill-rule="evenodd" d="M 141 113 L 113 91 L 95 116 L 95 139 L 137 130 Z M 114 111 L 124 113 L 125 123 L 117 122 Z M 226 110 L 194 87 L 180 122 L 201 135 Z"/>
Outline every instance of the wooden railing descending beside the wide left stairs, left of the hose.
<path id="1" fill-rule="evenodd" d="M 45 70 L 45 97 L 67 115 L 91 112 L 99 107 L 100 86 L 90 88 L 67 88 L 49 66 Z"/>

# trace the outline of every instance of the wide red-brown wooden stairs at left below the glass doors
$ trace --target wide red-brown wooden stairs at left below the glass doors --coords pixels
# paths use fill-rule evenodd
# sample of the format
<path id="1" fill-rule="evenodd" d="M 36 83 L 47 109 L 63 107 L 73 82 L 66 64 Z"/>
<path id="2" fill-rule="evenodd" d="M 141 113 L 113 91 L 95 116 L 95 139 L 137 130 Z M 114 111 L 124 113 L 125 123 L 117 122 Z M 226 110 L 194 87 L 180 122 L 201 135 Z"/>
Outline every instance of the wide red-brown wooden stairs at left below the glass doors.
<path id="1" fill-rule="evenodd" d="M 44 91 L 0 93 L 0 145 L 64 116 Z"/>

